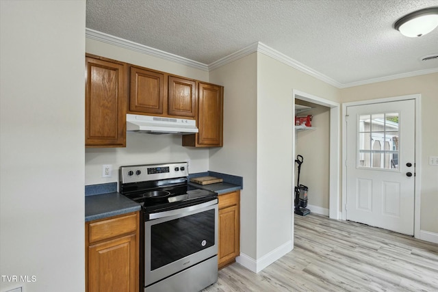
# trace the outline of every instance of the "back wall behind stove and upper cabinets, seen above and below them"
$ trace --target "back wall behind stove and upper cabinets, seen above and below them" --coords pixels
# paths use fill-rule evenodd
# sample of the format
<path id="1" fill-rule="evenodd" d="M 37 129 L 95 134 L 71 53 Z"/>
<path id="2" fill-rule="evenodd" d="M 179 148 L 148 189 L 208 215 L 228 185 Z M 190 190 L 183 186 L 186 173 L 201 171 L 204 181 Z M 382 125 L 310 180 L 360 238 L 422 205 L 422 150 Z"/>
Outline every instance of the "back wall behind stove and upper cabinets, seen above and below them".
<path id="1" fill-rule="evenodd" d="M 86 52 L 145 68 L 208 81 L 208 72 L 165 59 L 86 38 Z M 209 149 L 181 146 L 181 135 L 127 133 L 126 148 L 86 148 L 86 185 L 118 181 L 121 165 L 190 161 L 190 173 L 209 170 Z M 112 165 L 112 177 L 102 178 L 102 165 Z"/>

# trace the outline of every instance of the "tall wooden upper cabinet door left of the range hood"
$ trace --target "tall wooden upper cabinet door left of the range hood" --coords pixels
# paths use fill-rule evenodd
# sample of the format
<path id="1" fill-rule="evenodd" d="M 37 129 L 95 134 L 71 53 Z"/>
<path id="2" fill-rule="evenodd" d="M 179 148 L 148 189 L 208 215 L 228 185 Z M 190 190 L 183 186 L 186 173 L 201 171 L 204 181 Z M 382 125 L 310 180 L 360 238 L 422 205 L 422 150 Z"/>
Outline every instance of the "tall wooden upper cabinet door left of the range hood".
<path id="1" fill-rule="evenodd" d="M 86 146 L 126 146 L 125 65 L 86 57 Z"/>

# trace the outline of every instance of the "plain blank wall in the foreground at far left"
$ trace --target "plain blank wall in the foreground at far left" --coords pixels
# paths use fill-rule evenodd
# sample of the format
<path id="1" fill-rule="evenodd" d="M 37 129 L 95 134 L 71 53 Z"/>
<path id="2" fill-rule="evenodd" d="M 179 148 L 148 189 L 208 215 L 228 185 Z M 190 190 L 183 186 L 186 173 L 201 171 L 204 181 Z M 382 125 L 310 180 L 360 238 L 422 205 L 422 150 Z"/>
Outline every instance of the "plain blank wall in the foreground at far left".
<path id="1" fill-rule="evenodd" d="M 83 291 L 86 3 L 0 11 L 0 291 Z"/>

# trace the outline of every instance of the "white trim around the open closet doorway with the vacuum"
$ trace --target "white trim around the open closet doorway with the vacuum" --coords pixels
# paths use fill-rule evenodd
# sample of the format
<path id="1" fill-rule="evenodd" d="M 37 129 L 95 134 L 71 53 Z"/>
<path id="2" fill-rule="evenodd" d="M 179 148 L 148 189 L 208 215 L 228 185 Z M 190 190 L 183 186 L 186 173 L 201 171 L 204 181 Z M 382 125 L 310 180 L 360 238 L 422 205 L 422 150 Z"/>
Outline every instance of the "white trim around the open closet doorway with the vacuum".
<path id="1" fill-rule="evenodd" d="M 329 217 L 339 219 L 339 170 L 340 170 L 340 104 L 328 99 L 321 98 L 312 94 L 307 94 L 299 90 L 292 90 L 295 99 L 309 101 L 324 107 L 330 107 L 330 171 L 329 171 Z M 295 112 L 295 103 L 293 103 L 292 112 Z M 294 138 L 295 139 L 295 138 Z M 295 149 L 295 141 L 294 141 Z M 295 150 L 294 150 L 295 151 Z M 295 157 L 294 153 L 294 157 Z M 295 168 L 292 168 L 292 177 L 295 177 Z"/>

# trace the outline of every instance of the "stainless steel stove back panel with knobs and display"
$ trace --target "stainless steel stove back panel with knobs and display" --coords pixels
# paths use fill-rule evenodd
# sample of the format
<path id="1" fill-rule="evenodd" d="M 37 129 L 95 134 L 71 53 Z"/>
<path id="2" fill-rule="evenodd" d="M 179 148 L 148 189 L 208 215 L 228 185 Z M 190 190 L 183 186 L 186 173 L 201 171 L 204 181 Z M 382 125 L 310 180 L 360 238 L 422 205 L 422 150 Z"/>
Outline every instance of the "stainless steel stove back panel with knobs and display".
<path id="1" fill-rule="evenodd" d="M 188 163 L 130 165 L 120 167 L 120 183 L 140 183 L 188 176 Z"/>

